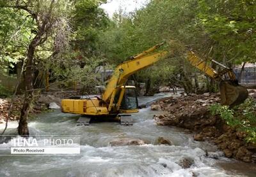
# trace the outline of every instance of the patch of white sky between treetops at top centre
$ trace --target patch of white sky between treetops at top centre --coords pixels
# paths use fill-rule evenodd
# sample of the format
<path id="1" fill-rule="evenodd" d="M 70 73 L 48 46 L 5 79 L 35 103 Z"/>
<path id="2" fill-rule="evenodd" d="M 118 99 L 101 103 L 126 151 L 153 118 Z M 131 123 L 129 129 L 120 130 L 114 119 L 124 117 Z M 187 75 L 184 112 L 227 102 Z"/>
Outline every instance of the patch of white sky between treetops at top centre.
<path id="1" fill-rule="evenodd" d="M 134 11 L 136 9 L 140 9 L 143 7 L 148 0 L 108 0 L 108 3 L 100 5 L 106 13 L 108 13 L 109 17 L 113 16 L 113 13 L 121 8 L 126 13 Z"/>

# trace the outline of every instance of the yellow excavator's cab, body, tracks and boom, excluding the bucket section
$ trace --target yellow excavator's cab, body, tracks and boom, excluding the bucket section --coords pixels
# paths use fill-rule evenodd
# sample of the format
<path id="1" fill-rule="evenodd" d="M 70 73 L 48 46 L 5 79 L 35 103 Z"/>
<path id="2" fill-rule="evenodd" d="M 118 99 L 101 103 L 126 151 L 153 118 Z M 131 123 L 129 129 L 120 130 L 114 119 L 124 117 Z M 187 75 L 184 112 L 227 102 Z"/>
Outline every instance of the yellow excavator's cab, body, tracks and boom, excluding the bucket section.
<path id="1" fill-rule="evenodd" d="M 121 124 L 132 125 L 132 118 L 128 114 L 139 111 L 138 99 L 135 87 L 126 85 L 127 80 L 131 74 L 151 66 L 168 53 L 165 51 L 151 53 L 161 45 L 163 43 L 119 64 L 101 97 L 87 96 L 81 99 L 63 99 L 61 101 L 62 112 L 82 115 L 77 120 L 77 125 L 88 125 L 91 118 L 102 117 L 118 118 Z"/>

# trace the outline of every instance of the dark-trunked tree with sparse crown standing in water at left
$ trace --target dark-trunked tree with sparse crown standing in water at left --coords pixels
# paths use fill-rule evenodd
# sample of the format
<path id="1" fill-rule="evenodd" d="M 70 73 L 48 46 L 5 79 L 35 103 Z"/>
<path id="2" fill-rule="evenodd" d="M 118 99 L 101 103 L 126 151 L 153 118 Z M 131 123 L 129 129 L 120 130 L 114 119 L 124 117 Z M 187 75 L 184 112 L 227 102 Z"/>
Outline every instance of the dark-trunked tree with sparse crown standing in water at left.
<path id="1" fill-rule="evenodd" d="M 17 11 L 26 11 L 31 17 L 35 26 L 33 26 L 32 39 L 29 42 L 26 52 L 25 67 L 24 67 L 24 83 L 25 96 L 22 109 L 20 111 L 20 120 L 18 132 L 22 136 L 28 136 L 28 113 L 31 101 L 34 97 L 34 71 L 35 71 L 35 55 L 38 46 L 42 46 L 48 40 L 52 41 L 52 55 L 60 51 L 65 33 L 67 30 L 68 18 L 67 14 L 70 8 L 67 1 L 5 1 L 1 3 L 1 8 L 10 8 Z M 62 29 L 62 30 L 60 30 Z M 63 30 L 64 29 L 64 30 Z M 31 29 L 32 30 L 32 29 Z"/>

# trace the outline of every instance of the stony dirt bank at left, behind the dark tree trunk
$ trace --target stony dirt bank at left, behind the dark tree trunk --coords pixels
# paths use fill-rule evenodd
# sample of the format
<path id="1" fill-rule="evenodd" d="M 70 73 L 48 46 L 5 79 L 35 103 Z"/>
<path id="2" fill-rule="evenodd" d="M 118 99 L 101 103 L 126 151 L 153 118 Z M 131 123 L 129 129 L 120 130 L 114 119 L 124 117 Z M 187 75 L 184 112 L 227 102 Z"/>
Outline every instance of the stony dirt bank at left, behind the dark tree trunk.
<path id="1" fill-rule="evenodd" d="M 41 113 L 48 109 L 50 103 L 54 102 L 60 106 L 61 99 L 76 96 L 76 92 L 47 92 L 38 94 L 31 105 L 30 115 Z M 0 124 L 3 124 L 8 117 L 10 98 L 0 98 Z M 20 109 L 22 108 L 23 96 L 17 95 L 13 101 L 12 111 L 9 120 L 19 120 Z"/>

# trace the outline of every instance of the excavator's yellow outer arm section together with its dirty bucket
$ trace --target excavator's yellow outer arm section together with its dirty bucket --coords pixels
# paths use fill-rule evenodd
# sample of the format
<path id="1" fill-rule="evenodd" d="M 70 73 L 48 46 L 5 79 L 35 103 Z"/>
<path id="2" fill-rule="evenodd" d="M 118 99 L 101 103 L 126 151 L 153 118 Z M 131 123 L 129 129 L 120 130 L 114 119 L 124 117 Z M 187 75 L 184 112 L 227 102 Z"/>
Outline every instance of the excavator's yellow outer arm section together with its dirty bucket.
<path id="1" fill-rule="evenodd" d="M 248 97 L 248 90 L 238 84 L 236 75 L 231 68 L 224 66 L 216 60 L 211 60 L 215 64 L 223 67 L 220 72 L 217 72 L 192 51 L 188 52 L 188 60 L 193 66 L 207 74 L 207 76 L 219 81 L 220 101 L 222 105 L 228 105 L 230 108 L 233 108 L 243 103 Z"/>

